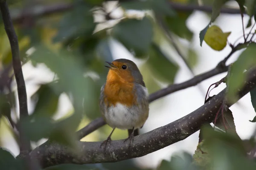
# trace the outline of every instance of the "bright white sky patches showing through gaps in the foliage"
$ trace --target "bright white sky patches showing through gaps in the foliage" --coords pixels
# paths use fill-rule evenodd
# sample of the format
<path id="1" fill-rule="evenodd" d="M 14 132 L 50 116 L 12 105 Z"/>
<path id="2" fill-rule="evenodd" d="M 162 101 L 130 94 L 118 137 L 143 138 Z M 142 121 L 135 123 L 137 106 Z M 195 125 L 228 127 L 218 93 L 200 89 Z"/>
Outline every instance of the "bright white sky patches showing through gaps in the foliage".
<path id="1" fill-rule="evenodd" d="M 245 15 L 244 24 L 247 24 L 247 20 L 248 16 Z M 224 57 L 229 54 L 231 50 L 230 47 L 227 46 L 223 51 L 214 51 L 209 46 L 207 46 L 205 42 L 203 43 L 203 47 L 200 46 L 199 32 L 208 23 L 209 17 L 207 17 L 207 15 L 203 12 L 199 11 L 194 12 L 194 14 L 192 14 L 187 20 L 187 26 L 195 33 L 192 41 L 193 48 L 195 48 L 199 54 L 199 62 L 194 68 L 195 74 L 200 74 L 214 68 L 219 61 L 224 59 Z M 228 41 L 231 43 L 233 43 L 238 37 L 242 35 L 241 16 L 239 14 L 221 14 L 221 17 L 218 17 L 214 24 L 218 25 L 224 32 L 232 32 L 228 37 Z M 249 29 L 247 29 L 247 32 L 248 31 Z M 111 48 L 113 50 L 113 56 L 115 59 L 126 58 L 133 60 L 137 65 L 141 64 L 141 62 L 138 59 L 135 59 L 124 47 L 122 47 L 122 45 L 113 43 Z M 180 65 L 180 70 L 178 71 L 175 78 L 175 83 L 183 82 L 192 78 L 189 70 L 186 68 L 186 65 L 184 65 L 179 56 L 172 49 L 170 49 L 168 52 L 170 55 L 175 56 L 176 62 Z M 234 62 L 240 53 L 241 51 L 233 54 L 233 56 L 228 60 L 228 63 Z M 33 79 L 33 81 L 26 82 L 28 99 L 37 88 L 35 86 L 36 81 L 51 81 L 54 76 L 47 68 L 44 67 L 44 65 L 41 65 L 38 68 L 33 68 L 29 63 L 23 66 L 23 74 L 25 79 Z M 211 85 L 213 82 L 219 81 L 225 76 L 225 74 L 226 73 L 219 74 L 202 82 L 201 85 L 204 88 L 204 92 L 206 93 L 209 85 Z M 217 94 L 224 88 L 225 85 L 221 84 L 217 89 L 212 90 L 210 95 L 212 96 L 213 94 Z M 154 103 L 150 105 L 149 118 L 143 128 L 140 130 L 140 133 L 148 132 L 189 114 L 204 104 L 204 96 L 202 96 L 198 86 L 194 86 L 170 94 L 166 96 L 162 101 L 163 103 L 161 106 L 154 105 Z M 59 103 L 59 114 L 57 117 L 61 116 L 61 113 L 67 113 L 71 107 L 70 102 L 65 95 L 61 96 Z M 28 106 L 29 111 L 31 112 L 33 105 L 30 101 Z M 256 127 L 255 123 L 249 122 L 249 120 L 253 119 L 253 117 L 256 115 L 250 102 L 250 94 L 247 94 L 242 99 L 240 99 L 239 105 L 233 105 L 230 107 L 230 110 L 233 112 L 236 123 L 236 130 L 241 139 L 249 138 L 253 133 L 254 128 Z M 198 134 L 199 131 L 189 136 L 187 139 L 184 139 L 183 141 L 172 144 L 171 146 L 165 147 L 146 156 L 136 158 L 135 161 L 142 167 L 156 167 L 162 159 L 169 160 L 170 156 L 177 151 L 186 150 L 193 154 L 198 144 Z M 18 147 L 9 133 L 5 133 L 5 137 L 0 140 L 3 142 L 4 147 L 10 150 L 15 156 L 19 153 Z"/>

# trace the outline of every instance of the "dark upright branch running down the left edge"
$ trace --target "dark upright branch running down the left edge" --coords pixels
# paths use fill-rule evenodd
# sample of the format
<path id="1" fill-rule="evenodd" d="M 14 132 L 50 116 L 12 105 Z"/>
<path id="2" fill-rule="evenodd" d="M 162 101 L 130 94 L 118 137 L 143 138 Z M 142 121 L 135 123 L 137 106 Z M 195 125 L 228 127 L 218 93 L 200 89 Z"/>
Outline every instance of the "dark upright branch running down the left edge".
<path id="1" fill-rule="evenodd" d="M 26 86 L 23 78 L 21 61 L 20 61 L 20 50 L 17 35 L 12 24 L 12 19 L 10 17 L 9 8 L 7 6 L 6 0 L 0 0 L 0 9 L 3 17 L 3 23 L 5 26 L 6 34 L 8 35 L 11 50 L 12 50 L 12 66 L 15 74 L 15 79 L 17 82 L 18 100 L 20 108 L 20 120 L 24 119 L 29 115 L 27 107 L 27 96 L 26 96 Z M 30 143 L 25 139 L 23 130 L 20 130 L 20 151 L 29 151 Z"/>

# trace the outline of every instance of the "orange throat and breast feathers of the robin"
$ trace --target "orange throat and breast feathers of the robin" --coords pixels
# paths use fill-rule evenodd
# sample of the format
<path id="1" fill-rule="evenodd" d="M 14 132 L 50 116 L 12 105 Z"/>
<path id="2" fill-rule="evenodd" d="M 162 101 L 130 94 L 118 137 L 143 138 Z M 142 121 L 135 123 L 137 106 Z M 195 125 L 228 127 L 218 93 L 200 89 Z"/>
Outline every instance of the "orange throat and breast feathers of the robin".
<path id="1" fill-rule="evenodd" d="M 128 107 L 137 105 L 134 94 L 134 83 L 132 77 L 123 75 L 120 77 L 116 71 L 108 72 L 106 85 L 104 88 L 105 104 L 108 106 L 120 103 Z"/>

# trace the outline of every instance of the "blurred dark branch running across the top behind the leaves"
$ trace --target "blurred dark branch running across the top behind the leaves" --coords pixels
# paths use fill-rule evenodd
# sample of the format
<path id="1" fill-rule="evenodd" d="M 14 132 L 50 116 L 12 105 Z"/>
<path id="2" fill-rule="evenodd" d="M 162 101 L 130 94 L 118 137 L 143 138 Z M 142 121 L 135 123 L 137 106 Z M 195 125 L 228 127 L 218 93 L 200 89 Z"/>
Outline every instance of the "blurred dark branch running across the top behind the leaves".
<path id="1" fill-rule="evenodd" d="M 212 7 L 211 6 L 198 6 L 195 4 L 181 4 L 181 3 L 172 3 L 169 2 L 170 7 L 177 10 L 177 11 L 204 11 L 211 13 Z M 73 5 L 70 3 L 59 3 L 55 5 L 50 6 L 35 6 L 33 8 L 29 9 L 15 9 L 12 12 L 12 20 L 13 22 L 19 22 L 20 20 L 23 20 L 27 16 L 30 17 L 42 17 L 45 15 L 58 13 L 67 11 L 73 8 Z M 239 8 L 221 8 L 221 13 L 225 14 L 240 14 Z"/>

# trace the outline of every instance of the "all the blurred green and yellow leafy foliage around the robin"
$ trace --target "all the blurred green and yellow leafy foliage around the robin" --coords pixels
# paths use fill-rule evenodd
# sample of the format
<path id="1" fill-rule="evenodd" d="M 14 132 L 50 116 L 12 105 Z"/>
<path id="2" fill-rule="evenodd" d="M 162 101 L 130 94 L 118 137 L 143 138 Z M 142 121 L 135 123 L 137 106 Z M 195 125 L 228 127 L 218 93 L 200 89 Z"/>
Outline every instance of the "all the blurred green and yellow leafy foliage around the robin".
<path id="1" fill-rule="evenodd" d="M 166 34 L 157 22 L 158 16 L 163 18 L 168 33 L 180 43 L 182 51 L 187 52 L 185 58 L 189 66 L 193 68 L 197 65 L 197 52 L 191 48 L 191 45 L 186 45 L 191 44 L 194 38 L 194 33 L 186 24 L 193 11 L 176 11 L 166 0 L 122 0 L 119 7 L 124 14 L 113 24 L 114 18 L 111 17 L 111 12 L 105 8 L 105 5 L 102 5 L 103 1 L 8 1 L 12 16 L 16 18 L 14 26 L 22 64 L 32 64 L 35 68 L 43 64 L 55 74 L 50 82 L 37 82 L 39 88 L 31 96 L 35 104 L 32 113 L 22 122 L 18 122 L 30 141 L 38 142 L 46 138 L 73 147 L 73 149 L 79 149 L 75 144 L 75 131 L 100 116 L 98 106 L 100 88 L 108 73 L 104 62 L 122 58 L 122 54 L 113 56 L 113 42 L 120 42 L 136 59 L 143 62 L 138 66 L 150 93 L 159 90 L 163 84 L 174 83 L 180 67 L 175 57 L 163 49 L 163 44 L 166 45 Z M 184 5 L 198 5 L 198 0 L 170 1 Z M 205 40 L 215 50 L 222 50 L 226 46 L 228 34 L 219 29 L 217 32 L 212 31 L 211 28 L 214 27 L 211 24 L 216 20 L 220 14 L 220 8 L 227 1 L 201 0 L 201 3 L 213 6 L 210 22 L 200 33 L 201 45 Z M 53 11 L 47 15 L 39 14 L 42 12 L 40 10 L 44 9 L 43 7 L 64 2 L 70 3 L 73 8 L 56 13 Z M 236 2 L 241 10 L 244 10 L 243 5 L 246 6 L 246 12 L 253 18 L 256 0 L 236 0 Z M 23 10 L 31 10 L 35 16 L 17 19 L 19 17 L 17 14 L 23 14 L 17 11 Z M 128 14 L 131 10 L 145 10 L 145 16 Z M 98 23 L 95 16 L 99 13 L 104 15 L 102 17 L 104 19 Z M 10 69 L 12 54 L 2 19 L 0 20 L 0 37 L 0 123 L 3 124 L 7 122 L 6 118 L 16 119 L 18 115 L 15 102 L 17 91 L 9 85 L 9 82 L 14 80 Z M 185 45 L 181 44 L 184 41 Z M 172 48 L 172 42 L 169 42 L 167 47 Z M 240 88 L 241 83 L 244 82 L 243 71 L 255 65 L 253 56 L 255 49 L 255 44 L 249 45 L 232 66 L 231 77 L 228 79 L 229 99 L 235 99 L 237 88 Z M 250 93 L 255 108 L 255 91 Z M 73 108 L 70 108 L 60 119 L 55 119 L 62 94 L 69 97 Z M 256 122 L 255 119 L 252 122 Z M 225 111 L 223 117 L 220 116 L 217 119 L 215 126 L 223 131 L 202 130 L 203 140 L 199 142 L 193 156 L 186 152 L 174 155 L 169 161 L 163 160 L 157 170 L 199 170 L 202 167 L 210 170 L 253 169 L 255 162 L 253 159 L 247 159 L 244 141 L 239 139 L 235 133 L 230 133 L 236 132 L 232 112 Z M 225 126 L 229 127 L 229 130 Z M 1 125 L 1 127 L 0 139 L 5 135 L 4 126 Z M 6 129 L 10 129 L 9 126 L 7 127 L 5 126 Z M 90 138 L 93 139 L 90 140 L 105 140 L 111 130 L 108 126 L 101 127 L 90 134 Z M 116 130 L 112 139 L 122 139 L 127 134 L 127 131 Z M 0 144 L 2 146 L 1 140 Z M 16 170 L 23 165 L 23 162 L 15 159 L 9 151 L 2 148 L 0 148 L 0 158 L 0 169 Z M 125 160 L 90 165 L 62 164 L 47 167 L 45 170 L 116 170 L 120 167 L 124 170 L 143 169 L 133 160 Z"/>

